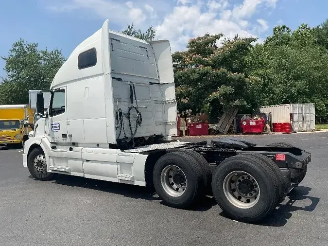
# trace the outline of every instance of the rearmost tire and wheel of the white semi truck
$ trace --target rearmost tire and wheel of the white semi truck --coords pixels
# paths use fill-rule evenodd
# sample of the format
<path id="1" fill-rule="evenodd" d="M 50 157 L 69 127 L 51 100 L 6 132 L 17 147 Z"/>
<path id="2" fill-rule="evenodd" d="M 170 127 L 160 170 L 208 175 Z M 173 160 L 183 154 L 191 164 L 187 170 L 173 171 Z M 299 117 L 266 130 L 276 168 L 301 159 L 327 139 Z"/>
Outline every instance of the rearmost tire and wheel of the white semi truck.
<path id="1" fill-rule="evenodd" d="M 247 223 L 264 219 L 276 208 L 279 198 L 275 173 L 252 154 L 222 161 L 215 169 L 212 190 L 215 200 L 229 217 Z"/>

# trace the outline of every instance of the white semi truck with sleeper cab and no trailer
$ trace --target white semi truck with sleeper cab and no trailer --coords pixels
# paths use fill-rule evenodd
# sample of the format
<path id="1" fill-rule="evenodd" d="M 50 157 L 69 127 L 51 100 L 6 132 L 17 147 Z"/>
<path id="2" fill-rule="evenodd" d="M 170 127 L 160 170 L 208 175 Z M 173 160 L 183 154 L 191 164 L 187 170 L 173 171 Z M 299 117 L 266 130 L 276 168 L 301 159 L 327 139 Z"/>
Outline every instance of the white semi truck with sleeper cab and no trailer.
<path id="1" fill-rule="evenodd" d="M 56 174 L 152 186 L 168 206 L 213 195 L 231 218 L 264 219 L 304 178 L 311 154 L 286 143 L 219 138 L 173 141 L 177 114 L 170 43 L 110 31 L 108 20 L 37 93 L 34 136 L 23 166 Z M 110 185 L 110 182 L 108 182 Z"/>

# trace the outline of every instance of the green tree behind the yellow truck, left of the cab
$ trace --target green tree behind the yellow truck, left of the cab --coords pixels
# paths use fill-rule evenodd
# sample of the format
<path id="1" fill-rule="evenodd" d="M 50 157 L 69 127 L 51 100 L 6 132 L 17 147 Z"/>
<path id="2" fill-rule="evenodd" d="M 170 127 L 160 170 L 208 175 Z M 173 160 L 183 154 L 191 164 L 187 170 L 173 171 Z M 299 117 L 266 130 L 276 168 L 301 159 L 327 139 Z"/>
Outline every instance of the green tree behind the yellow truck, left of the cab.
<path id="1" fill-rule="evenodd" d="M 65 62 L 61 51 L 38 50 L 36 43 L 16 41 L 6 63 L 6 78 L 0 82 L 0 104 L 26 104 L 30 89 L 49 89 L 52 79 Z"/>

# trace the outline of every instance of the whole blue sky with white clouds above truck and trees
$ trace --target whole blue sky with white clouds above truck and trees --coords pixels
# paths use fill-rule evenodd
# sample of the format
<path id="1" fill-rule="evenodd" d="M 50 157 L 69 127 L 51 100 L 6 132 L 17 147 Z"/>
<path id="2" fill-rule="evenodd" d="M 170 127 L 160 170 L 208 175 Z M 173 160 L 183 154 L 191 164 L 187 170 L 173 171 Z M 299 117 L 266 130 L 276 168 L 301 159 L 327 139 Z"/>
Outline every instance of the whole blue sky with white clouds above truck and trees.
<path id="1" fill-rule="evenodd" d="M 263 40 L 277 24 L 292 30 L 302 22 L 316 26 L 328 18 L 327 9 L 327 0 L 2 0 L 0 56 L 23 38 L 68 57 L 106 18 L 117 31 L 130 23 L 141 29 L 153 25 L 156 38 L 169 39 L 175 51 L 206 32 Z M 0 76 L 3 67 L 0 59 Z"/>

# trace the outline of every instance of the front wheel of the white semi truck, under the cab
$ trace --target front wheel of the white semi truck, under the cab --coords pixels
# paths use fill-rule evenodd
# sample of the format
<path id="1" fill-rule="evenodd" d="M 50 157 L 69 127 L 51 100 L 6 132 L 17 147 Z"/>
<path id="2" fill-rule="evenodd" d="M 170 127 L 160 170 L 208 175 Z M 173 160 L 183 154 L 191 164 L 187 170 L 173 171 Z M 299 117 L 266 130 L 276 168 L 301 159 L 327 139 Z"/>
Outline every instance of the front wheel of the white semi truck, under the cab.
<path id="1" fill-rule="evenodd" d="M 53 173 L 47 172 L 46 156 L 41 148 L 35 148 L 27 158 L 27 167 L 30 174 L 37 180 L 50 180 Z"/>

